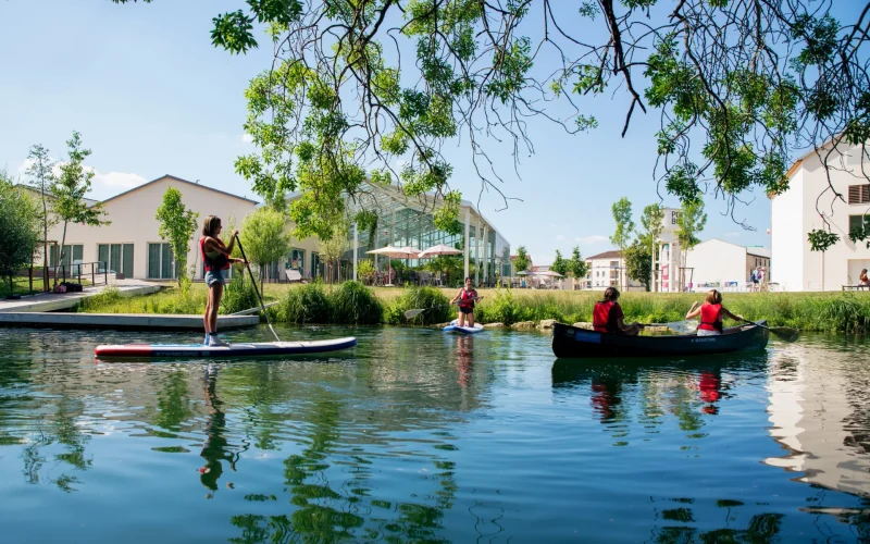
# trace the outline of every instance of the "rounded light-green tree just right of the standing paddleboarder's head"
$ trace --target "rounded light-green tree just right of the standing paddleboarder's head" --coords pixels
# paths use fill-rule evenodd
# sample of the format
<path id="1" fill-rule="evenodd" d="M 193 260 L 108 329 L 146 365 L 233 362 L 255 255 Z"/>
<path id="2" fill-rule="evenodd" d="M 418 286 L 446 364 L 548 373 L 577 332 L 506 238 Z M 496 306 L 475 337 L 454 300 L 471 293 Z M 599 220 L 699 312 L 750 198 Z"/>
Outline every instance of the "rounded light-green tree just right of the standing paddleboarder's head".
<path id="1" fill-rule="evenodd" d="M 266 268 L 290 251 L 290 234 L 284 213 L 264 206 L 241 222 L 241 246 L 248 260 L 260 270 L 260 292 Z"/>

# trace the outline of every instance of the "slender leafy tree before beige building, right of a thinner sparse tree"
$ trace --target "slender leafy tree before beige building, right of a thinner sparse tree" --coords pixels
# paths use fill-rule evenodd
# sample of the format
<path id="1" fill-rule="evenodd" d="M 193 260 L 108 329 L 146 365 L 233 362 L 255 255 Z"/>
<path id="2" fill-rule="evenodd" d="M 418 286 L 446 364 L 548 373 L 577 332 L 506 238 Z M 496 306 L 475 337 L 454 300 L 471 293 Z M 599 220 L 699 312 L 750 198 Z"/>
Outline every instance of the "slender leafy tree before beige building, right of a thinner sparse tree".
<path id="1" fill-rule="evenodd" d="M 73 137 L 66 140 L 67 160 L 62 163 L 61 173 L 54 180 L 51 193 L 54 195 L 54 214 L 63 222 L 63 236 L 61 237 L 61 255 L 54 263 L 54 285 L 58 284 L 58 264 L 63 262 L 63 247 L 66 244 L 66 226 L 72 223 L 82 223 L 89 226 L 108 225 L 111 222 L 102 220 L 105 212 L 102 203 L 88 205 L 85 195 L 90 190 L 90 180 L 94 170 L 84 165 L 85 159 L 90 156 L 90 149 L 82 147 L 82 136 L 73 131 Z"/>

